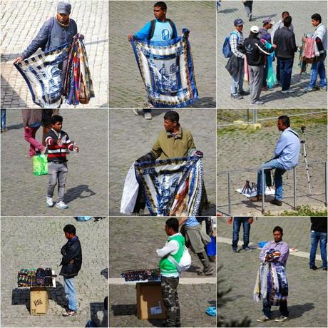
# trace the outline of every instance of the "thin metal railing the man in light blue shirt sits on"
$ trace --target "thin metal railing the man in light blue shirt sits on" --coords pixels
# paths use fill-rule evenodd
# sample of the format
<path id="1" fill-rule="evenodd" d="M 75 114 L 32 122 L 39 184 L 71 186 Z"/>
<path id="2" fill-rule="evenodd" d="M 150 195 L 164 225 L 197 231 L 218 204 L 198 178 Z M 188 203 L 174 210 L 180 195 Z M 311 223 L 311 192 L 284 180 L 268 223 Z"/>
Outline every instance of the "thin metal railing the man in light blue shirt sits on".
<path id="1" fill-rule="evenodd" d="M 328 198 L 327 198 L 327 190 L 328 190 L 328 184 L 327 184 L 327 160 L 322 161 L 314 161 L 312 163 L 308 163 L 308 165 L 315 165 L 315 164 L 323 164 L 324 163 L 324 195 L 325 195 L 325 205 L 327 206 Z M 303 165 L 304 163 L 301 163 L 298 165 Z M 292 169 L 293 172 L 293 209 L 296 210 L 297 207 L 297 193 L 296 193 L 296 187 L 297 187 L 297 180 L 296 180 L 296 167 Z M 225 175 L 227 174 L 227 196 L 228 196 L 228 213 L 227 215 L 232 215 L 231 210 L 231 178 L 232 175 L 235 173 L 243 173 L 243 172 L 252 172 L 252 171 L 259 171 L 262 170 L 262 191 L 263 191 L 263 197 L 262 197 L 262 215 L 265 214 L 265 170 L 268 170 L 270 168 L 242 168 L 240 170 L 229 170 L 229 171 L 220 171 L 217 173 L 217 175 Z"/>

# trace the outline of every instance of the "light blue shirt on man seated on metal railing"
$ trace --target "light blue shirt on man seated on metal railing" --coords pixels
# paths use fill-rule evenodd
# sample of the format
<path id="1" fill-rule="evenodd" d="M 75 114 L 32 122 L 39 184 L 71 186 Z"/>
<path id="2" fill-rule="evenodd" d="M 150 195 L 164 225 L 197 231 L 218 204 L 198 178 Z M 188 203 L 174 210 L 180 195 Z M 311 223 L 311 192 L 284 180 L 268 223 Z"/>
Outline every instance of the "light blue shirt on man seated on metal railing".
<path id="1" fill-rule="evenodd" d="M 277 158 L 277 161 L 285 168 L 285 170 L 291 170 L 297 165 L 299 147 L 300 143 L 297 133 L 291 128 L 285 129 L 275 148 L 275 158 Z"/>

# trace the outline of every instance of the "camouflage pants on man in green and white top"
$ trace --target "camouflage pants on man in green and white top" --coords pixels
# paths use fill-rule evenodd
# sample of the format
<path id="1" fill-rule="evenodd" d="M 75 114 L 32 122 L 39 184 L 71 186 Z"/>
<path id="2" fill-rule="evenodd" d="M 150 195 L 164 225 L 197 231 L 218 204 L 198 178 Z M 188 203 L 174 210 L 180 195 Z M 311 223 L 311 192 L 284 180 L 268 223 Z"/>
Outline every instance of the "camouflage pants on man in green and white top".
<path id="1" fill-rule="evenodd" d="M 162 296 L 166 310 L 166 327 L 180 327 L 179 278 L 162 276 Z"/>

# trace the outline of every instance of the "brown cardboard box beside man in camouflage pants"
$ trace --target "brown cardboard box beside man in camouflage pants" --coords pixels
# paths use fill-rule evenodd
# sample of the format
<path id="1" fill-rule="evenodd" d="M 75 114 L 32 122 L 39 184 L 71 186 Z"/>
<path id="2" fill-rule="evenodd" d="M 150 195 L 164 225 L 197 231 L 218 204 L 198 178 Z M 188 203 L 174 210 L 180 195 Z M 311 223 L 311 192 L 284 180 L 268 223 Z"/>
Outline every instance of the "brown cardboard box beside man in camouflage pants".
<path id="1" fill-rule="evenodd" d="M 160 282 L 137 283 L 137 316 L 139 319 L 165 319 Z"/>

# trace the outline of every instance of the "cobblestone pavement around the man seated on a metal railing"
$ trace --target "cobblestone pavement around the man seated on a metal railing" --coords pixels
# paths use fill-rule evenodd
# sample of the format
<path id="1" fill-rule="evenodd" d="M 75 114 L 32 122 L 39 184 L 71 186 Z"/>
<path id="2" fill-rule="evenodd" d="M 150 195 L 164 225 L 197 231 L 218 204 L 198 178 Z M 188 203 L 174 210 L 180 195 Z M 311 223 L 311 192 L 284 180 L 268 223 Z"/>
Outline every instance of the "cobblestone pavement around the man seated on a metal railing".
<path id="1" fill-rule="evenodd" d="M 301 140 L 306 141 L 308 163 L 327 160 L 327 127 L 324 123 L 311 123 L 315 116 L 302 116 L 299 122 L 307 125 L 305 137 L 299 128 Z M 291 118 L 291 127 L 293 128 Z M 275 145 L 280 138 L 280 131 L 276 126 L 264 126 L 256 132 L 235 130 L 217 135 L 217 209 L 224 213 L 228 212 L 227 198 L 227 174 L 220 174 L 219 171 L 239 170 L 242 168 L 258 168 L 266 160 L 273 156 Z M 233 159 L 233 160 L 232 160 Z M 311 175 L 312 194 L 309 195 L 307 184 L 307 171 L 304 165 L 304 156 L 299 155 L 297 165 L 297 206 L 310 205 L 313 208 L 322 209 L 324 205 L 324 164 L 311 165 L 309 172 Z M 262 203 L 252 203 L 244 195 L 236 193 L 237 188 L 242 188 L 245 180 L 256 183 L 256 172 L 234 173 L 231 178 L 232 190 L 232 214 L 233 215 L 260 215 Z M 284 199 L 281 207 L 268 202 L 273 196 L 267 196 L 265 210 L 272 214 L 278 214 L 284 210 L 292 210 L 293 206 L 293 173 L 287 171 L 283 176 Z"/>

